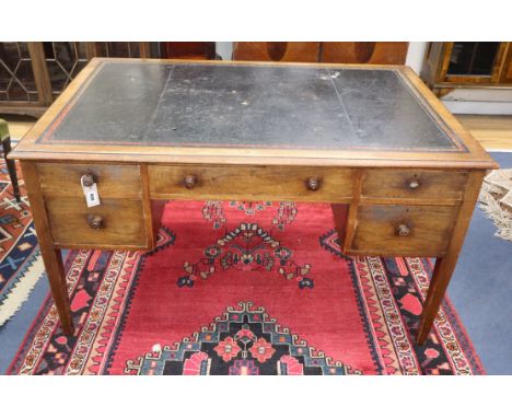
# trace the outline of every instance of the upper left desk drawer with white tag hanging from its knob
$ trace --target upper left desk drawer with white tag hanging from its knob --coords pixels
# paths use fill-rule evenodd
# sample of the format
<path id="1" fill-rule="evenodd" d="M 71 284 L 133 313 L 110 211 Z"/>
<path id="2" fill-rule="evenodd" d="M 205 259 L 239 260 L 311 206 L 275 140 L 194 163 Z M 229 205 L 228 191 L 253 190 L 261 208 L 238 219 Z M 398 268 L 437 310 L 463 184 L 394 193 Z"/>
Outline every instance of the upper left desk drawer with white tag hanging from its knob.
<path id="1" fill-rule="evenodd" d="M 37 172 L 45 196 L 83 198 L 80 178 L 84 174 L 93 175 L 100 199 L 105 197 L 130 199 L 142 196 L 138 165 L 38 163 Z"/>

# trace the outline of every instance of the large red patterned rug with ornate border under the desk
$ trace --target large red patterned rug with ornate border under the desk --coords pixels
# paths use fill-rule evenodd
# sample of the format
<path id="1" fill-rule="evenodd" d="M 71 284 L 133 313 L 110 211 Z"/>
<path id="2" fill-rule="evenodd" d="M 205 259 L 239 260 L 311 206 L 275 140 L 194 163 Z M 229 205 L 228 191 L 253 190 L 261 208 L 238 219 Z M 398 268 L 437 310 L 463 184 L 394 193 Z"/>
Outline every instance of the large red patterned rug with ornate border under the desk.
<path id="1" fill-rule="evenodd" d="M 170 202 L 159 246 L 71 252 L 11 374 L 481 374 L 450 302 L 414 344 L 432 268 L 349 258 L 328 205 Z"/>

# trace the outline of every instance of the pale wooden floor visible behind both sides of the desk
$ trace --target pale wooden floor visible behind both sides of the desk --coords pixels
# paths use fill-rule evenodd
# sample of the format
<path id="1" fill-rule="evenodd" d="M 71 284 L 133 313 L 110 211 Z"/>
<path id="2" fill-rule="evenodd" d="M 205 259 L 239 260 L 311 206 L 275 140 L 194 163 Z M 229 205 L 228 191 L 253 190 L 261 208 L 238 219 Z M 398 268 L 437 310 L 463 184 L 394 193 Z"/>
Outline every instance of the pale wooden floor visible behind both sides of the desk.
<path id="1" fill-rule="evenodd" d="M 0 115 L 9 123 L 13 139 L 21 139 L 35 119 L 24 116 Z M 512 151 L 512 116 L 456 115 L 458 120 L 488 151 Z"/>

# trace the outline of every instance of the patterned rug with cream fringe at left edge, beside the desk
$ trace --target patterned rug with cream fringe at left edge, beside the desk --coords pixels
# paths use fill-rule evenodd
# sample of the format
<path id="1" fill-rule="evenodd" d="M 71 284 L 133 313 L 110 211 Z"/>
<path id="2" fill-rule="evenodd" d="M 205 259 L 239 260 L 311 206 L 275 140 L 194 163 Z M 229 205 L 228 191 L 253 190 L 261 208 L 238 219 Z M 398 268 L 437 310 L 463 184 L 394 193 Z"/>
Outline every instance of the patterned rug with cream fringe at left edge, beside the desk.
<path id="1" fill-rule="evenodd" d="M 28 200 L 20 179 L 16 202 L 7 165 L 0 164 L 0 329 L 20 310 L 44 274 Z"/>

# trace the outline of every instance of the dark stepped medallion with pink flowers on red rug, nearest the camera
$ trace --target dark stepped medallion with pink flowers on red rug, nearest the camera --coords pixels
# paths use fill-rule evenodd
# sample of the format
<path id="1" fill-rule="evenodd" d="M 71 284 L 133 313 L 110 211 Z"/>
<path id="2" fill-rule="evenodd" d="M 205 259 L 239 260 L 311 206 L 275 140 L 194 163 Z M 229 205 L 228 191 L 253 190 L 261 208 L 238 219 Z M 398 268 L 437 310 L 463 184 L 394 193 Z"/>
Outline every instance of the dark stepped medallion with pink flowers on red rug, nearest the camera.
<path id="1" fill-rule="evenodd" d="M 298 336 L 290 334 L 263 307 L 240 302 L 228 307 L 209 327 L 174 348 L 155 347 L 151 352 L 128 360 L 130 374 L 360 374 L 349 367 L 329 361 Z"/>

